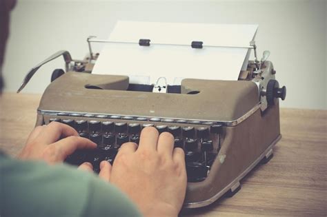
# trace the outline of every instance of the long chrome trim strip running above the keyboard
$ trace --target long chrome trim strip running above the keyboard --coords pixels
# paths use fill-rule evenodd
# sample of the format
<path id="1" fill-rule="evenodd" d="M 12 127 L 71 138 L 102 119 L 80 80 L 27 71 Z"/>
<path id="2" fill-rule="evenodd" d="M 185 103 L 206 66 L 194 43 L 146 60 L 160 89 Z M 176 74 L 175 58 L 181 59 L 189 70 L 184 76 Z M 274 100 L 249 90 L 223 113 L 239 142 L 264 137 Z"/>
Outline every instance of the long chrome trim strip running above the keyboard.
<path id="1" fill-rule="evenodd" d="M 187 121 L 188 124 L 204 124 L 206 122 L 214 122 L 214 123 L 222 123 L 227 127 L 234 127 L 236 125 L 238 125 L 239 123 L 243 122 L 246 120 L 246 118 L 248 118 L 249 116 L 251 116 L 253 113 L 255 113 L 257 110 L 259 110 L 260 108 L 260 104 L 255 105 L 255 107 L 252 107 L 251 110 L 249 110 L 248 112 L 246 112 L 246 114 L 244 114 L 243 116 L 237 118 L 235 121 L 219 121 L 219 120 L 196 120 L 196 119 L 184 119 L 185 121 Z M 155 122 L 162 122 L 162 123 L 166 123 L 165 120 L 166 119 L 171 119 L 173 120 L 172 123 L 179 123 L 179 118 L 168 118 L 168 117 L 157 117 L 157 116 L 133 116 L 133 115 L 124 115 L 124 114 L 100 114 L 100 113 L 88 113 L 88 112 L 68 112 L 68 111 L 54 111 L 54 110 L 37 110 L 38 114 L 42 114 L 42 115 L 53 115 L 53 116 L 57 116 L 57 114 L 59 113 L 66 113 L 67 116 L 70 116 L 70 114 L 81 114 L 81 116 L 83 116 L 84 114 L 93 114 L 95 115 L 95 118 L 99 115 L 103 115 L 103 116 L 108 116 L 108 118 L 110 119 L 120 119 L 120 118 L 112 118 L 114 116 L 117 117 L 123 117 L 123 116 L 130 116 L 132 117 L 132 119 L 130 120 L 134 120 L 137 121 L 137 118 L 146 118 L 146 121 L 151 121 L 151 119 L 153 120 L 154 118 L 158 119 L 159 121 L 155 121 Z M 197 123 L 199 122 L 199 123 Z"/>

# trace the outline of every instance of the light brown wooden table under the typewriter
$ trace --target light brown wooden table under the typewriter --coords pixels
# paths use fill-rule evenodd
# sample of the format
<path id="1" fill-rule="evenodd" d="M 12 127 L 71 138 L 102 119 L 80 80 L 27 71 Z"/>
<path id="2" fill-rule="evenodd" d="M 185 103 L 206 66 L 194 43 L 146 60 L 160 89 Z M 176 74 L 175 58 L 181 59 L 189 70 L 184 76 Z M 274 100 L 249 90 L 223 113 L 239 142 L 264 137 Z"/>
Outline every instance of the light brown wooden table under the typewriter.
<path id="1" fill-rule="evenodd" d="M 38 94 L 0 97 L 0 149 L 16 155 L 34 127 Z M 281 109 L 283 138 L 275 156 L 256 167 L 232 198 L 182 216 L 326 216 L 327 111 Z M 4 174 L 6 175 L 6 174 Z"/>

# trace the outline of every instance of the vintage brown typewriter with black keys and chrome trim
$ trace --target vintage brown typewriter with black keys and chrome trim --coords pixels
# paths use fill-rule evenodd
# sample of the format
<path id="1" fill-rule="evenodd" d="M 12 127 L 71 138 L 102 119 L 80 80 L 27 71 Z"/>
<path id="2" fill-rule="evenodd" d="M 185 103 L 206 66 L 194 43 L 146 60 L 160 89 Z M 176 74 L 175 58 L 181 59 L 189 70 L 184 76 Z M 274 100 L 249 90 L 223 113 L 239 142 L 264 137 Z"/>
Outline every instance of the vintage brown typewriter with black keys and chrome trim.
<path id="1" fill-rule="evenodd" d="M 65 123 L 98 145 L 75 152 L 67 163 L 88 161 L 99 172 L 99 163 L 113 163 L 123 143 L 139 143 L 143 127 L 156 127 L 159 133 L 170 132 L 175 147 L 185 151 L 184 207 L 194 208 L 232 196 L 251 169 L 273 156 L 281 138 L 279 98 L 285 99 L 286 87 L 279 87 L 275 80 L 273 63 L 266 60 L 269 52 L 264 52 L 261 61 L 255 52 L 255 60 L 239 72 L 237 81 L 184 79 L 181 85 L 168 85 L 162 94 L 152 92 L 154 85 L 130 83 L 128 76 L 92 74 L 99 56 L 91 50 L 92 40 L 88 38 L 90 54 L 85 59 L 73 60 L 69 52 L 59 51 L 32 68 L 17 91 L 41 65 L 63 56 L 66 72 L 52 73 L 37 109 L 36 125 Z M 139 45 L 149 42 L 140 39 Z M 191 45 L 201 49 L 202 43 Z M 251 46 L 256 49 L 253 41 Z"/>

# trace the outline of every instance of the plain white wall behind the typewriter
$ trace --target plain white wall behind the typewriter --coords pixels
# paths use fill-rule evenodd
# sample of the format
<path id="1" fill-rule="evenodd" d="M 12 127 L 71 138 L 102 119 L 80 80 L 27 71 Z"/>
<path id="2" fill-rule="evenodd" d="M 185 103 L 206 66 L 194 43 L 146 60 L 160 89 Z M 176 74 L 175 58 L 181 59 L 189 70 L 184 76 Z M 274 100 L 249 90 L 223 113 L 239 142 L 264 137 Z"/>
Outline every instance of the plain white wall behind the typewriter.
<path id="1" fill-rule="evenodd" d="M 107 38 L 119 19 L 257 23 L 259 54 L 270 50 L 277 80 L 288 89 L 281 106 L 326 110 L 326 11 L 326 1 L 21 0 L 11 16 L 5 91 L 16 91 L 26 72 L 57 50 L 82 59 L 86 38 Z M 54 68 L 63 60 L 43 66 L 23 92 L 43 92 Z"/>

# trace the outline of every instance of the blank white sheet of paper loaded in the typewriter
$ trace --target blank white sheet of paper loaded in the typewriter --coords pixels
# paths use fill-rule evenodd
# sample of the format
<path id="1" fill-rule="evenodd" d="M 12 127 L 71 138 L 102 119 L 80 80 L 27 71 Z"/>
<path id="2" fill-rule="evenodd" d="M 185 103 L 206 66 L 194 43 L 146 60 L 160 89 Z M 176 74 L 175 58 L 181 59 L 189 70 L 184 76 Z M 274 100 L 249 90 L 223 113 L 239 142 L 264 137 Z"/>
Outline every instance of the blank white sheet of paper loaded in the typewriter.
<path id="1" fill-rule="evenodd" d="M 184 78 L 237 80 L 250 52 L 230 47 L 248 47 L 256 32 L 257 25 L 119 21 L 108 40 L 134 43 L 106 44 L 92 73 L 127 75 L 139 84 L 161 77 L 170 85 Z M 139 39 L 150 39 L 150 46 Z M 192 41 L 203 41 L 204 48 L 191 48 Z"/>

